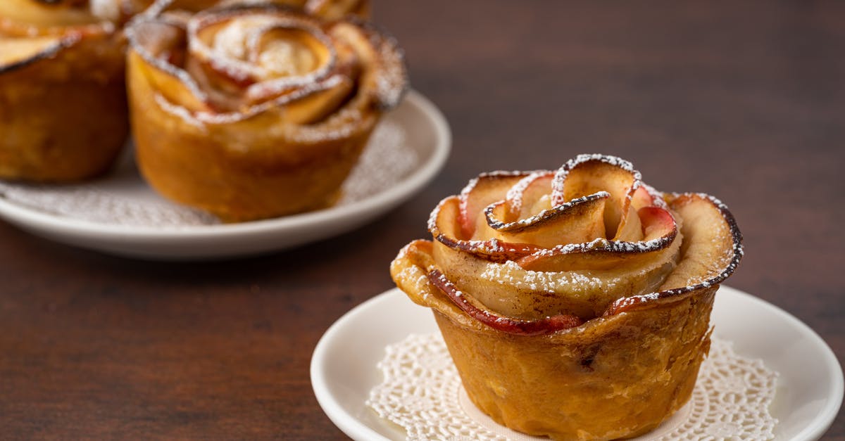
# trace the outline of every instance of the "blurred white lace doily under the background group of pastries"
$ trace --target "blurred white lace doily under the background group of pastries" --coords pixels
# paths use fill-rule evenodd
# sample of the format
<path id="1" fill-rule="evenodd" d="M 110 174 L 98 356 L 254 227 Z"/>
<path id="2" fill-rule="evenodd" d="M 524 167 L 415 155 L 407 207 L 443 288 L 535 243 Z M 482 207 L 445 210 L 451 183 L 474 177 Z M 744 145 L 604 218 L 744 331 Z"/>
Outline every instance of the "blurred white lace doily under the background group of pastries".
<path id="1" fill-rule="evenodd" d="M 105 177 L 78 184 L 26 184 L 0 181 L 0 198 L 30 210 L 109 225 L 199 226 L 220 221 L 213 215 L 175 204 L 155 193 L 140 177 L 127 152 Z M 405 128 L 385 120 L 370 137 L 343 186 L 338 204 L 366 199 L 400 182 L 419 161 L 406 143 Z"/>

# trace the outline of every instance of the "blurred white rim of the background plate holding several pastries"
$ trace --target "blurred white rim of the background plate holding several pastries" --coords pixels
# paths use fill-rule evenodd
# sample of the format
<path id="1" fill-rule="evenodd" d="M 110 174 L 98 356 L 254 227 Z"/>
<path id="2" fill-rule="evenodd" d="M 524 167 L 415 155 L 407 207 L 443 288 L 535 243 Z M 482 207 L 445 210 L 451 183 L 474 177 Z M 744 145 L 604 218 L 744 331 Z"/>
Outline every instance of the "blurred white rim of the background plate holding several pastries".
<path id="1" fill-rule="evenodd" d="M 61 231 L 62 235 L 79 237 L 114 237 L 127 241 L 150 239 L 196 240 L 209 237 L 237 237 L 275 232 L 335 221 L 358 213 L 366 213 L 374 207 L 391 204 L 422 189 L 439 172 L 450 155 L 452 133 L 444 114 L 425 95 L 417 90 L 408 90 L 404 101 L 416 106 L 428 117 L 434 127 L 432 155 L 418 166 L 408 177 L 394 186 L 372 196 L 350 204 L 343 204 L 325 210 L 311 211 L 260 221 L 233 224 L 200 226 L 131 226 L 85 221 L 72 217 L 53 215 L 41 210 L 30 209 L 0 198 L 0 218 L 27 231 Z"/>

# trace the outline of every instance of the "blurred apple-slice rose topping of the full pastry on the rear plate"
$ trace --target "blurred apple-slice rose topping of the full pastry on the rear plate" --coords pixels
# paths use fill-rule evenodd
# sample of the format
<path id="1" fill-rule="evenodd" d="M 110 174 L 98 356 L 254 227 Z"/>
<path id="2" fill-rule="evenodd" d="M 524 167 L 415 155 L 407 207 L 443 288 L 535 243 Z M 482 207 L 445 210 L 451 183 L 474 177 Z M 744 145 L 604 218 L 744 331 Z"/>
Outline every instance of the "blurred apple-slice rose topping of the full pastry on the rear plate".
<path id="1" fill-rule="evenodd" d="M 404 84 L 395 41 L 368 28 L 324 22 L 273 3 L 208 9 L 189 18 L 183 12 L 168 9 L 140 19 L 128 37 L 134 65 L 166 106 L 194 120 L 265 114 L 289 125 L 323 123 L 346 106 L 382 99 L 382 90 L 375 90 L 380 85 L 368 83 Z M 381 81 L 383 70 L 397 78 Z M 390 107 L 386 101 L 377 106 Z"/>

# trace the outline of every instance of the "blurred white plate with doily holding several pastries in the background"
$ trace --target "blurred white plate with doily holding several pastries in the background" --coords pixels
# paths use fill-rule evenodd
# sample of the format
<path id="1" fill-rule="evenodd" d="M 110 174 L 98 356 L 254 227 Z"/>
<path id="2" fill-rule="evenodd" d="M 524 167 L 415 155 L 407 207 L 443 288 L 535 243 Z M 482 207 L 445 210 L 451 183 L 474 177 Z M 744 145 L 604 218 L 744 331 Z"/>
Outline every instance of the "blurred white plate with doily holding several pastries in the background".
<path id="1" fill-rule="evenodd" d="M 379 134 L 382 128 L 392 132 Z M 0 218 L 57 242 L 147 259 L 222 259 L 292 248 L 351 231 L 383 215 L 428 184 L 449 155 L 451 133 L 443 114 L 414 91 L 385 115 L 373 139 L 379 136 L 383 144 L 401 143 L 415 156 L 406 164 L 409 170 L 384 180 L 380 187 L 373 188 L 379 182 L 363 182 L 357 187 L 359 197 L 326 210 L 266 221 L 215 223 L 161 198 L 126 161 L 109 176 L 78 186 L 4 182 Z M 373 150 L 373 140 L 368 150 Z M 386 155 L 371 156 L 373 161 L 390 161 Z M 357 175 L 353 171 L 350 181 Z M 91 216 L 100 211 L 106 213 Z"/>

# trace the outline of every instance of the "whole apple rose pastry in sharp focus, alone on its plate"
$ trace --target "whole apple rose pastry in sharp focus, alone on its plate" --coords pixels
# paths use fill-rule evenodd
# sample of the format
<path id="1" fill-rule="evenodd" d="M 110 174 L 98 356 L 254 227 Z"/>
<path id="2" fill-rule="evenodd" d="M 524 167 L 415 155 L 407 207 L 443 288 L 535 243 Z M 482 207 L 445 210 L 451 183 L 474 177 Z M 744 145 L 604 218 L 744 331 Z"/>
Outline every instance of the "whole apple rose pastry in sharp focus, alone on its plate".
<path id="1" fill-rule="evenodd" d="M 558 439 L 634 437 L 683 406 L 742 255 L 717 199 L 659 193 L 604 155 L 483 174 L 428 228 L 396 284 L 432 308 L 479 409 Z"/>

